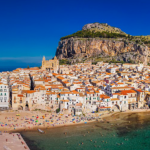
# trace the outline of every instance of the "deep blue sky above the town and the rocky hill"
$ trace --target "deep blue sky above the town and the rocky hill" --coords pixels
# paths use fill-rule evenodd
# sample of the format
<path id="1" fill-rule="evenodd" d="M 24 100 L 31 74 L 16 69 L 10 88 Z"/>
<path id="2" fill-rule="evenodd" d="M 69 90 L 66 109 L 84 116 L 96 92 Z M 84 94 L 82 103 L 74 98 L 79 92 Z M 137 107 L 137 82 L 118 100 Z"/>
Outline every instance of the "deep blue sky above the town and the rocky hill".
<path id="1" fill-rule="evenodd" d="M 150 35 L 149 0 L 0 0 L 0 69 L 40 66 L 87 23 Z"/>

